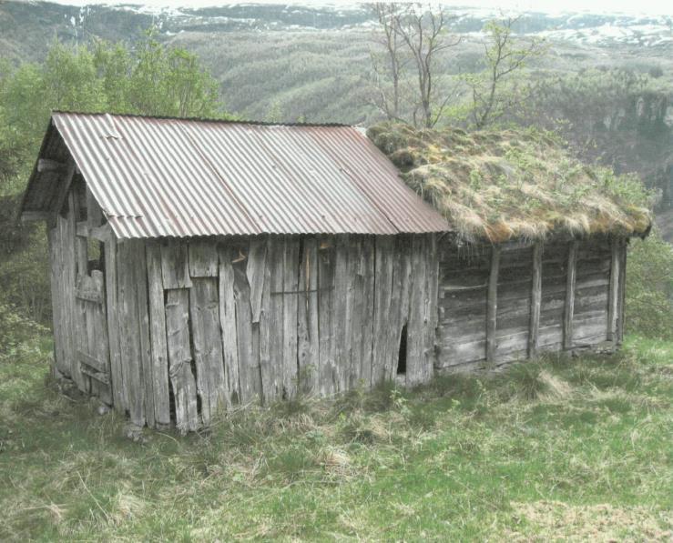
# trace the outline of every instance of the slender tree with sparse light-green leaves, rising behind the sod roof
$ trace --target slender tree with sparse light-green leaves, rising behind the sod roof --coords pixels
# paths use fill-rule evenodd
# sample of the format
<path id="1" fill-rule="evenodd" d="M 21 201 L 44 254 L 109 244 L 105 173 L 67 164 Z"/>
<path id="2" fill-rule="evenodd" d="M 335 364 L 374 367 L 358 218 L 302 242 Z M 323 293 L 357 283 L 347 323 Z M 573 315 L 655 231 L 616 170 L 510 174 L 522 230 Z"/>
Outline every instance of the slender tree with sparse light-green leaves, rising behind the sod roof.
<path id="1" fill-rule="evenodd" d="M 505 113 L 506 99 L 501 91 L 508 76 L 523 68 L 532 57 L 546 52 L 542 39 L 524 42 L 515 38 L 513 26 L 519 18 L 489 21 L 484 26 L 488 35 L 484 42 L 486 68 L 482 74 L 465 77 L 472 90 L 472 117 L 477 128 L 483 128 Z"/>

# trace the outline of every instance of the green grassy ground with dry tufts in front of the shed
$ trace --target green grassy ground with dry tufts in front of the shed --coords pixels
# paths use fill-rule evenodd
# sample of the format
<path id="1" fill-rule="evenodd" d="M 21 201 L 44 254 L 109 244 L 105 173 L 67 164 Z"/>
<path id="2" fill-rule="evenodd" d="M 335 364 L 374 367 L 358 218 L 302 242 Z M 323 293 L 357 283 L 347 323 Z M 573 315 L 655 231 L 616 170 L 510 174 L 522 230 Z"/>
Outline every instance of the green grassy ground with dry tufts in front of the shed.
<path id="1" fill-rule="evenodd" d="M 669 540 L 673 343 L 146 431 L 0 359 L 0 540 Z"/>

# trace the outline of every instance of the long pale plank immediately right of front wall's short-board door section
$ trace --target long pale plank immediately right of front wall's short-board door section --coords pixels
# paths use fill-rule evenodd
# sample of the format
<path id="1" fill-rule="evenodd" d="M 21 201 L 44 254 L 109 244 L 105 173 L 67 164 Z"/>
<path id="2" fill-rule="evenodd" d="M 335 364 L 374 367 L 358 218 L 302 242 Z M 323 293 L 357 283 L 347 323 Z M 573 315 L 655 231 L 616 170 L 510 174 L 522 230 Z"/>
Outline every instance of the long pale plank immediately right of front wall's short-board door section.
<path id="1" fill-rule="evenodd" d="M 229 246 L 219 247 L 219 323 L 222 330 L 222 358 L 229 402 L 240 403 L 239 344 L 236 328 L 233 255 Z"/>

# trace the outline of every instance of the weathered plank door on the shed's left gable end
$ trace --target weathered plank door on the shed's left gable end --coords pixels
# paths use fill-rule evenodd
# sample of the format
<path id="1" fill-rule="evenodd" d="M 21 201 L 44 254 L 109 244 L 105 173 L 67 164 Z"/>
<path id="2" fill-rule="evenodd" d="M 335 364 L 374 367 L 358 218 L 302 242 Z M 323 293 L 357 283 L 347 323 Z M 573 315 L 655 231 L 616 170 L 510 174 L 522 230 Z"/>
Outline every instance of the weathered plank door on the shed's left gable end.
<path id="1" fill-rule="evenodd" d="M 86 392 L 112 404 L 109 343 L 103 273 L 79 275 L 75 291 L 76 364 L 85 380 Z"/>

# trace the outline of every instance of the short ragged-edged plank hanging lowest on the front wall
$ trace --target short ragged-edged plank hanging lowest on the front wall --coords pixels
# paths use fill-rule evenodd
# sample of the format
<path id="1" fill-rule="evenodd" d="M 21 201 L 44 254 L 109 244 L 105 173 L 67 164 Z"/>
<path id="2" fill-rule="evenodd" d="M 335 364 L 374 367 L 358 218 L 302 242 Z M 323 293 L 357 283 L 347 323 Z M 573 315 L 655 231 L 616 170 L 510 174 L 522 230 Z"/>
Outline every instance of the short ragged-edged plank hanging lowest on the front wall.
<path id="1" fill-rule="evenodd" d="M 171 289 L 166 293 L 168 376 L 175 399 L 176 427 L 181 433 L 199 428 L 197 386 L 192 373 L 189 347 L 189 291 Z"/>

